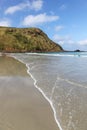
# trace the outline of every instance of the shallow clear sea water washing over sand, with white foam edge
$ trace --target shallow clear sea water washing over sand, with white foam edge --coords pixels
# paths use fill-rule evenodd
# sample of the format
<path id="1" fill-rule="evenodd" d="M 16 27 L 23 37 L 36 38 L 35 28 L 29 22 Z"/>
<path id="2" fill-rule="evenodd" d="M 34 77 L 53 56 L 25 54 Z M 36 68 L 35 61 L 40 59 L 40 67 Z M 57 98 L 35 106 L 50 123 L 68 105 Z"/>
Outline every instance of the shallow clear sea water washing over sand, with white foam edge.
<path id="1" fill-rule="evenodd" d="M 49 102 L 60 130 L 87 130 L 87 52 L 14 53 Z"/>

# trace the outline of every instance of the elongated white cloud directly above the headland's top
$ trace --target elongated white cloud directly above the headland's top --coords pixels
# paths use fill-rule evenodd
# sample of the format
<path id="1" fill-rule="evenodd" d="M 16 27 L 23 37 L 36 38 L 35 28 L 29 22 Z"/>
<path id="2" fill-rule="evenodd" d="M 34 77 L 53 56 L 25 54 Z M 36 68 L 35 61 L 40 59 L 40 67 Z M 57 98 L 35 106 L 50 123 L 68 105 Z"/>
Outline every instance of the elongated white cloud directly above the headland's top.
<path id="1" fill-rule="evenodd" d="M 46 13 L 38 14 L 38 15 L 28 15 L 23 20 L 24 26 L 35 26 L 39 24 L 43 24 L 46 22 L 52 22 L 59 19 L 59 16 L 55 15 L 47 15 Z"/>

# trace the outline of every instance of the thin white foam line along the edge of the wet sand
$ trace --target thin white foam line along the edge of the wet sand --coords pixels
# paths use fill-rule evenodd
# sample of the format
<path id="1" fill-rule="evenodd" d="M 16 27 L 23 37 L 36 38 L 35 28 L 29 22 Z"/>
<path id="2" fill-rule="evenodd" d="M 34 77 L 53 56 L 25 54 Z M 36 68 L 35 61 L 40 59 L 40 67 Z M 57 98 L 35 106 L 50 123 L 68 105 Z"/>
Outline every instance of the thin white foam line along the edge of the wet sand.
<path id="1" fill-rule="evenodd" d="M 52 108 L 52 110 L 53 110 L 54 119 L 55 119 L 55 121 L 56 121 L 56 123 L 57 123 L 57 126 L 58 126 L 58 128 L 59 128 L 60 130 L 63 130 L 63 128 L 62 128 L 62 126 L 61 126 L 61 124 L 60 124 L 60 122 L 59 122 L 59 120 L 58 120 L 58 118 L 57 118 L 56 110 L 55 110 L 55 108 L 54 108 L 54 106 L 53 106 L 52 101 L 45 95 L 45 93 L 42 91 L 42 89 L 39 88 L 39 86 L 37 86 L 37 80 L 36 80 L 36 79 L 34 78 L 34 76 L 31 74 L 29 64 L 26 64 L 25 62 L 23 62 L 22 60 L 18 59 L 18 58 L 17 58 L 16 56 L 14 56 L 14 55 L 10 55 L 10 56 L 13 57 L 14 59 L 20 61 L 21 63 L 23 63 L 23 64 L 26 65 L 26 67 L 28 68 L 28 69 L 27 69 L 27 73 L 28 73 L 28 74 L 31 76 L 31 78 L 33 79 L 35 88 L 37 88 L 37 89 L 39 90 L 39 92 L 41 92 L 41 94 L 44 96 L 44 98 L 49 102 L 49 104 L 50 104 L 50 106 L 51 106 L 51 108 Z"/>

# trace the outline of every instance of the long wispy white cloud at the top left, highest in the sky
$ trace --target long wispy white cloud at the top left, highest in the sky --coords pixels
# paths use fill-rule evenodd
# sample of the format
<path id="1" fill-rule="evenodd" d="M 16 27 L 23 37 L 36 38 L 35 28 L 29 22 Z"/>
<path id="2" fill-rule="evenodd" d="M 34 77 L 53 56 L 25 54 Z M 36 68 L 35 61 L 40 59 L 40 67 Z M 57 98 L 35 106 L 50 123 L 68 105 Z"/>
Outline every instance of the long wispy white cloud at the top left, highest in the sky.
<path id="1" fill-rule="evenodd" d="M 43 1 L 42 0 L 33 0 L 32 2 L 25 2 L 25 3 L 20 3 L 18 5 L 15 6 L 10 6 L 9 8 L 7 8 L 7 10 L 5 11 L 5 14 L 13 14 L 17 11 L 21 11 L 24 10 L 26 8 L 30 9 L 30 10 L 40 10 L 43 6 Z"/>

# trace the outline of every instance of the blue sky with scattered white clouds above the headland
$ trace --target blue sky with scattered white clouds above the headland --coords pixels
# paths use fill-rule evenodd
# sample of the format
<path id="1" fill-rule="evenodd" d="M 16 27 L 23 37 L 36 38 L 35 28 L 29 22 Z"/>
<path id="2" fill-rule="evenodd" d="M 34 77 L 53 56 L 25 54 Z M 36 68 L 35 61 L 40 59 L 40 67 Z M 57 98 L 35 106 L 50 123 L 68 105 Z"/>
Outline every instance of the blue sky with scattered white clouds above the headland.
<path id="1" fill-rule="evenodd" d="M 87 0 L 0 0 L 0 26 L 37 27 L 64 50 L 87 51 Z"/>

